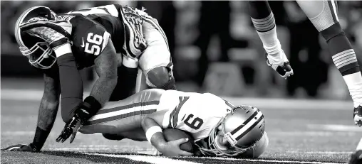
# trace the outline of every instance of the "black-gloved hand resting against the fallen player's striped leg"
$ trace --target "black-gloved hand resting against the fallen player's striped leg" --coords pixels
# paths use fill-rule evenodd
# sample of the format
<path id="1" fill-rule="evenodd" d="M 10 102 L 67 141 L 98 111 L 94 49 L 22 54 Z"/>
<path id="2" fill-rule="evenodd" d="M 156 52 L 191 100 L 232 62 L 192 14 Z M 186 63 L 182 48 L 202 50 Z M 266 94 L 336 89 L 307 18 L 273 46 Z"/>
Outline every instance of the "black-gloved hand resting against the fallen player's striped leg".
<path id="1" fill-rule="evenodd" d="M 76 138 L 78 130 L 81 129 L 82 126 L 83 125 L 81 119 L 79 118 L 78 114 L 75 114 L 72 117 L 71 121 L 68 121 L 66 123 L 66 126 L 64 126 L 63 131 L 61 131 L 61 135 L 59 135 L 58 138 L 56 138 L 56 141 L 57 142 L 61 141 L 63 143 L 70 136 L 72 136 L 70 141 L 70 143 L 72 143 L 74 138 Z"/>

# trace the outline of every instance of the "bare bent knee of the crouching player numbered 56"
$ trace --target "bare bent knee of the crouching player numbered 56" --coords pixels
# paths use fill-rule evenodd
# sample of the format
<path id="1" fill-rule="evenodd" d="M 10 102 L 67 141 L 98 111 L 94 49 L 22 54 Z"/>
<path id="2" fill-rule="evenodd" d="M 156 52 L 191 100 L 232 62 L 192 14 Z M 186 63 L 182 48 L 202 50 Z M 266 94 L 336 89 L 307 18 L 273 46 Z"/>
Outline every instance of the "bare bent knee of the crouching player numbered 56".
<path id="1" fill-rule="evenodd" d="M 156 67 L 147 73 L 148 86 L 160 89 L 175 89 L 175 78 L 167 67 Z"/>

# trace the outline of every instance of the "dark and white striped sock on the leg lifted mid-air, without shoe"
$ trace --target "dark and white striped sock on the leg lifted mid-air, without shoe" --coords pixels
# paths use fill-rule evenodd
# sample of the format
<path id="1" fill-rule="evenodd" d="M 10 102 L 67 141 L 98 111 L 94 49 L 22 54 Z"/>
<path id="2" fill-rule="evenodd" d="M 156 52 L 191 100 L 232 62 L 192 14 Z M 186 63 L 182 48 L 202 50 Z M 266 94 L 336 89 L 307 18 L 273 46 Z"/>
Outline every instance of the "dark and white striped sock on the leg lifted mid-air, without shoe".
<path id="1" fill-rule="evenodd" d="M 275 18 L 268 1 L 249 1 L 249 11 L 254 28 L 257 30 L 260 40 L 262 40 L 269 60 L 282 65 L 284 55 L 281 54 L 284 52 L 281 50 L 276 34 Z"/>

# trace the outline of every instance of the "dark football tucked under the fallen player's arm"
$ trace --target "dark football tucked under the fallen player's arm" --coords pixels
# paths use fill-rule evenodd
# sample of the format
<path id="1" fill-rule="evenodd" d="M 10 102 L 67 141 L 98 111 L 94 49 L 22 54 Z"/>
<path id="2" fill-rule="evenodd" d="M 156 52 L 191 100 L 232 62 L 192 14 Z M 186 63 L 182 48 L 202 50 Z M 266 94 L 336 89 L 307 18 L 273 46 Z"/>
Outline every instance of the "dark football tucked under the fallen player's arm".
<path id="1" fill-rule="evenodd" d="M 180 145 L 180 149 L 182 151 L 187 151 L 190 153 L 195 153 L 197 150 L 194 142 L 194 138 L 190 136 L 188 133 L 185 133 L 185 131 L 181 131 L 179 129 L 164 129 L 162 131 L 163 136 L 165 137 L 165 140 L 168 141 L 175 141 L 181 138 L 189 138 L 189 141 L 186 143 L 182 143 Z"/>

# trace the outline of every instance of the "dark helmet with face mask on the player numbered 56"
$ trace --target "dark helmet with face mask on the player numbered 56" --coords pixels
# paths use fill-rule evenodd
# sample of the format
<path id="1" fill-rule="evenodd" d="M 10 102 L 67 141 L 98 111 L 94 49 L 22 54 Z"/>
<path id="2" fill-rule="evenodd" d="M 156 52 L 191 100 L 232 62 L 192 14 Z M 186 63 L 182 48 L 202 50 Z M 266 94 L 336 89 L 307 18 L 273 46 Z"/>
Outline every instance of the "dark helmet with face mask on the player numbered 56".
<path id="1" fill-rule="evenodd" d="M 40 19 L 56 20 L 56 13 L 46 6 L 34 6 L 24 11 L 15 24 L 14 35 L 20 52 L 29 59 L 34 67 L 51 68 L 56 63 L 56 55 L 44 40 L 36 35 L 21 31 L 21 23 Z"/>

